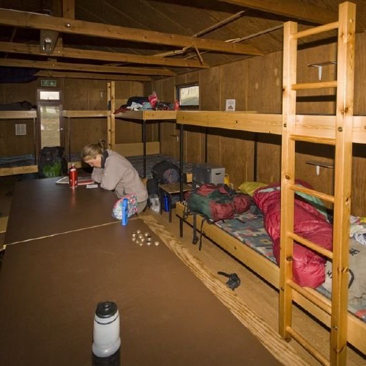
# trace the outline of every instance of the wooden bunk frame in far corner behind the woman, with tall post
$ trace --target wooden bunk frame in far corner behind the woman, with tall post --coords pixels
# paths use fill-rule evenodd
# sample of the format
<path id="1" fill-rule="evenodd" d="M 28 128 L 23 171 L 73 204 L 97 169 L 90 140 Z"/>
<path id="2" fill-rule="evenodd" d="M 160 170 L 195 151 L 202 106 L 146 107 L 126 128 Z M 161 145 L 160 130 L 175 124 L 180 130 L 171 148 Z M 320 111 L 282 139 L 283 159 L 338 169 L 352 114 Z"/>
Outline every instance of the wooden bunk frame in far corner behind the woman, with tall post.
<path id="1" fill-rule="evenodd" d="M 146 140 L 146 122 L 174 121 L 177 118 L 177 111 L 126 111 L 114 114 L 116 110 L 115 82 L 111 81 L 107 84 L 108 98 L 108 129 L 107 142 L 109 148 L 120 153 L 125 157 L 142 155 L 144 157 L 144 174 L 146 177 L 146 155 L 155 155 L 160 153 L 160 142 L 147 142 Z M 142 142 L 116 144 L 116 118 L 123 120 L 133 120 L 142 122 Z"/>

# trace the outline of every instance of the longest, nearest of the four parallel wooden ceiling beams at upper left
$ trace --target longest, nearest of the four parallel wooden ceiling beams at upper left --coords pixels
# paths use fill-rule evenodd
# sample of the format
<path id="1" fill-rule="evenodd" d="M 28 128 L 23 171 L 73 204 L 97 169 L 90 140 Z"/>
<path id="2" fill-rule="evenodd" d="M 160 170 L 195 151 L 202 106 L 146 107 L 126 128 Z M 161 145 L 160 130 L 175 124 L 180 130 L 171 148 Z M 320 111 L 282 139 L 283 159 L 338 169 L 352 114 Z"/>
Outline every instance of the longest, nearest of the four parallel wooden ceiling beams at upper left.
<path id="1" fill-rule="evenodd" d="M 18 10 L 0 8 L 0 24 L 12 25 L 13 27 L 49 29 L 68 34 L 81 34 L 83 36 L 111 38 L 115 40 L 129 40 L 132 42 L 143 42 L 150 44 L 165 44 L 175 47 L 196 47 L 200 50 L 217 51 L 220 53 L 235 53 L 239 55 L 263 55 L 251 44 L 233 44 L 220 40 L 201 39 L 179 34 L 166 34 L 159 31 L 147 31 L 120 27 L 118 25 L 107 25 L 77 21 L 70 18 L 47 16 Z"/>

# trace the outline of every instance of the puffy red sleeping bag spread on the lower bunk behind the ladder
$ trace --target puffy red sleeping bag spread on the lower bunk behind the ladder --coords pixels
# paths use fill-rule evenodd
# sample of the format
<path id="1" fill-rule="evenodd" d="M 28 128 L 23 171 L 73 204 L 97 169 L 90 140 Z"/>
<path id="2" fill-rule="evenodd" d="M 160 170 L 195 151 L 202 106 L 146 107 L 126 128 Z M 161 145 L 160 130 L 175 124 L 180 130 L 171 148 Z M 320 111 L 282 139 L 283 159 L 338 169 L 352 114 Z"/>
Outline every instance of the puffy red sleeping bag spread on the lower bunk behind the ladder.
<path id="1" fill-rule="evenodd" d="M 302 185 L 309 187 L 304 182 Z M 273 241 L 274 257 L 280 263 L 280 186 L 268 185 L 254 192 L 253 200 L 264 215 L 264 227 Z M 313 205 L 295 195 L 293 231 L 323 248 L 332 250 L 332 225 Z M 318 287 L 325 280 L 326 259 L 302 246 L 293 245 L 293 280 L 302 287 Z"/>

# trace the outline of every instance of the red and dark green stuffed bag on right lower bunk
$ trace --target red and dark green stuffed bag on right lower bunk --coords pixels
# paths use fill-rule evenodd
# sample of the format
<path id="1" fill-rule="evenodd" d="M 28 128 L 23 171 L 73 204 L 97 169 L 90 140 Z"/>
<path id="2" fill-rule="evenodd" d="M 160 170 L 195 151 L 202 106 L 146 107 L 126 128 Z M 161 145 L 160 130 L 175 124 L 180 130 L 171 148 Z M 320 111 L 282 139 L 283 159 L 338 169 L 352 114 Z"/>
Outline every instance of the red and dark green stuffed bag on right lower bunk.
<path id="1" fill-rule="evenodd" d="M 250 207 L 251 199 L 238 194 L 227 185 L 207 183 L 187 195 L 187 208 L 198 212 L 205 218 L 218 221 L 233 219 L 236 213 L 243 213 Z"/>

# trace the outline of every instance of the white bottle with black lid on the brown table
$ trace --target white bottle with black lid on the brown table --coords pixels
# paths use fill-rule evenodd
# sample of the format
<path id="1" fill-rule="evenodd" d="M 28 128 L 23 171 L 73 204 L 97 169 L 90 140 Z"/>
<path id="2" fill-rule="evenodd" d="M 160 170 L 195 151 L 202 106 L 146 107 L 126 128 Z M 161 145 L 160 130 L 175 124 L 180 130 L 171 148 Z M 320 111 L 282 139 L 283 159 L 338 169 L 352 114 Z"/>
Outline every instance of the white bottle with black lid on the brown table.
<path id="1" fill-rule="evenodd" d="M 94 314 L 93 354 L 108 357 L 120 348 L 120 315 L 114 302 L 99 302 Z"/>

